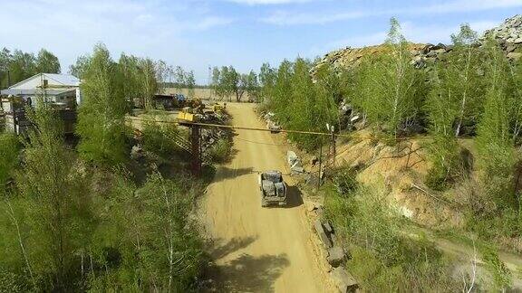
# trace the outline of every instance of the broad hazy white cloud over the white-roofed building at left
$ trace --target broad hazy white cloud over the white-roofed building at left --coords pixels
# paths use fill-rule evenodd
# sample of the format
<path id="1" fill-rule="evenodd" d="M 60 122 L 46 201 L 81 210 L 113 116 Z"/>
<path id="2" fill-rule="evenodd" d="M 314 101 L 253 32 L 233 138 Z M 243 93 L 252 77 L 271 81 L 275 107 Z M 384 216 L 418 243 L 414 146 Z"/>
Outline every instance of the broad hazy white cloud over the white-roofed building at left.
<path id="1" fill-rule="evenodd" d="M 121 52 L 150 56 L 202 75 L 206 66 L 198 66 L 208 48 L 192 43 L 188 36 L 234 21 L 199 3 L 164 0 L 0 0 L 0 6 L 2 22 L 16 24 L 0 30 L 4 45 L 24 52 L 46 48 L 58 56 L 63 71 L 102 42 L 114 59 Z"/>

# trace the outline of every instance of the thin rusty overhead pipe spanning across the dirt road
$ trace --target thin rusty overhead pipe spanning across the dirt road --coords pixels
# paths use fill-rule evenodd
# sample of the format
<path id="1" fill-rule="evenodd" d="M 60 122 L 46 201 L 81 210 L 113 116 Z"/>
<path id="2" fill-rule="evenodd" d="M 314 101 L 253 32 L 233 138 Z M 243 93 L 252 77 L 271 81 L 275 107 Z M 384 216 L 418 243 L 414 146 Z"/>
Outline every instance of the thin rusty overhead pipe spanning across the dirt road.
<path id="1" fill-rule="evenodd" d="M 292 130 L 292 129 L 277 129 L 271 130 L 267 128 L 251 128 L 251 127 L 241 127 L 235 125 L 222 125 L 215 123 L 201 123 L 201 122 L 189 122 L 189 121 L 173 121 L 173 120 L 153 120 L 153 119 L 144 119 L 144 118 L 131 118 L 131 120 L 138 121 L 146 121 L 146 122 L 156 122 L 156 123 L 169 123 L 176 124 L 182 126 L 200 126 L 206 128 L 228 128 L 228 129 L 238 129 L 238 130 L 254 130 L 254 131 L 269 131 L 269 132 L 285 132 L 285 133 L 296 133 L 296 134 L 305 134 L 305 135 L 316 135 L 316 136 L 332 136 L 335 137 L 346 137 L 346 138 L 356 138 L 356 139 L 375 139 L 376 137 L 362 137 L 351 134 L 339 134 L 339 133 L 331 133 L 331 132 L 319 132 L 319 131 L 305 131 L 305 130 Z M 428 139 L 430 137 L 397 137 L 397 140 L 411 140 L 411 139 Z"/>

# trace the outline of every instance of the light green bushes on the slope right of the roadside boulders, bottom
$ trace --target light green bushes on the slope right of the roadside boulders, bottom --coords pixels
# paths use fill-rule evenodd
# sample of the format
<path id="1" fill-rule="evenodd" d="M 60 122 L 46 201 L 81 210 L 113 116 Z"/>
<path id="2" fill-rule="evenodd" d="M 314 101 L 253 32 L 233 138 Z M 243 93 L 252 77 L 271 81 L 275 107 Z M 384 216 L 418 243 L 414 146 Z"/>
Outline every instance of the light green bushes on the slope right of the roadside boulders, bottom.
<path id="1" fill-rule="evenodd" d="M 343 176 L 343 175 L 342 175 Z M 409 238 L 405 227 L 375 187 L 355 186 L 339 194 L 326 190 L 325 212 L 349 246 L 346 264 L 371 292 L 452 292 L 459 289 L 452 269 L 434 244 Z"/>

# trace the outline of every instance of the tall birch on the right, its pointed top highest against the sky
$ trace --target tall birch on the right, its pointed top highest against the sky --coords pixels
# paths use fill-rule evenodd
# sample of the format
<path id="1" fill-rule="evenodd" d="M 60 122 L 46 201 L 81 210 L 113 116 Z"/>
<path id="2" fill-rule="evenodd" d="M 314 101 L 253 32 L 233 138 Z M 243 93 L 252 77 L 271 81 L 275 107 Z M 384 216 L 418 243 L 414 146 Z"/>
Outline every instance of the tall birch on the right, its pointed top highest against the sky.
<path id="1" fill-rule="evenodd" d="M 417 118 L 424 94 L 422 71 L 411 66 L 411 52 L 396 19 L 385 50 L 377 57 L 365 57 L 359 71 L 354 106 L 362 109 L 371 122 L 397 137 L 401 123 Z"/>

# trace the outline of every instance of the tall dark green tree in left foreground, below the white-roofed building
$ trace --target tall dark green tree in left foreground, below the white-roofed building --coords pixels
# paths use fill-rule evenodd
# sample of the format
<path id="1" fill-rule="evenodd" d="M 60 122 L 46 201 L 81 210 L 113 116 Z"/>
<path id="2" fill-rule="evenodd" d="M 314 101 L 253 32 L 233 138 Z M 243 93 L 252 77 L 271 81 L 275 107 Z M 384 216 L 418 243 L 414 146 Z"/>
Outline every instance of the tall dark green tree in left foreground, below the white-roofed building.
<path id="1" fill-rule="evenodd" d="M 68 291 L 76 278 L 75 203 L 84 191 L 75 181 L 73 154 L 63 145 L 61 122 L 54 110 L 40 100 L 30 118 L 37 128 L 29 132 L 24 165 L 15 176 L 29 229 L 26 260 L 37 275 L 48 276 L 43 279 L 43 290 Z"/>

